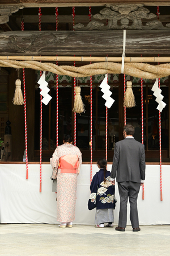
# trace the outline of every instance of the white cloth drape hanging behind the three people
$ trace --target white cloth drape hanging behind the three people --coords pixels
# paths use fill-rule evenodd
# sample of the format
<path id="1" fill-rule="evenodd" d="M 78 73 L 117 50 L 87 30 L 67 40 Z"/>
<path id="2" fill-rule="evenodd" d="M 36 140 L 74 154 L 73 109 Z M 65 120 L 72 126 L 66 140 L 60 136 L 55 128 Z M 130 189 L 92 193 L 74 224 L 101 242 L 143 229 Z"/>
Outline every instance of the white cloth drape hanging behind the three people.
<path id="1" fill-rule="evenodd" d="M 108 164 L 108 170 L 111 170 Z M 93 175 L 99 171 L 92 167 Z M 56 224 L 56 193 L 52 192 L 52 167 L 42 164 L 42 192 L 39 192 L 39 164 L 29 164 L 29 179 L 25 179 L 25 164 L 0 164 L 0 221 L 1 223 L 49 223 Z M 159 165 L 146 166 L 145 200 L 142 187 L 138 196 L 140 225 L 170 224 L 170 172 L 162 166 L 163 201 L 160 201 Z M 90 165 L 83 164 L 78 176 L 74 224 L 94 224 L 95 209 L 88 210 L 90 196 Z M 114 224 L 118 223 L 119 196 L 116 184 L 117 204 Z M 128 204 L 128 225 L 129 204 Z"/>

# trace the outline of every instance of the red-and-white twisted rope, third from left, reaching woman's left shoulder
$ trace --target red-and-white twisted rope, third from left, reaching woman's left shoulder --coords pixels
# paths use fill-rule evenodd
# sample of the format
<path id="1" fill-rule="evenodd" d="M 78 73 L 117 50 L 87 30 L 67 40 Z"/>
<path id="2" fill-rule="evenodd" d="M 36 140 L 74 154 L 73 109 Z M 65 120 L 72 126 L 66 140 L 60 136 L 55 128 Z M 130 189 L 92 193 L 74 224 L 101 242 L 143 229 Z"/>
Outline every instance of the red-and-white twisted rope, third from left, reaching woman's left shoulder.
<path id="1" fill-rule="evenodd" d="M 56 31 L 57 30 L 58 30 L 58 7 L 56 7 Z M 58 65 L 58 61 L 56 61 L 56 65 Z M 58 74 L 56 74 L 56 147 L 58 147 Z"/>

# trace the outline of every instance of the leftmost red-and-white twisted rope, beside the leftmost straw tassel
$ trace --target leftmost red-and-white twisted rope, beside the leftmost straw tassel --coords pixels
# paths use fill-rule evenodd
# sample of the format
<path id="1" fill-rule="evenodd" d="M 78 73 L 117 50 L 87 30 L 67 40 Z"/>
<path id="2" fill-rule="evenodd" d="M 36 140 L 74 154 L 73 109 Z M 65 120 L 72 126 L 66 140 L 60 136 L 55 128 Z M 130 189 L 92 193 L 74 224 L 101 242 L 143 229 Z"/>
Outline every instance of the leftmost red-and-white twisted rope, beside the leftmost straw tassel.
<path id="1" fill-rule="evenodd" d="M 21 23 L 21 29 L 24 31 L 24 20 Z M 25 157 L 26 157 L 26 179 L 28 180 L 28 149 L 27 149 L 27 111 L 26 111 L 26 92 L 25 92 L 25 69 L 23 68 L 23 86 L 24 86 L 24 122 L 25 122 Z"/>

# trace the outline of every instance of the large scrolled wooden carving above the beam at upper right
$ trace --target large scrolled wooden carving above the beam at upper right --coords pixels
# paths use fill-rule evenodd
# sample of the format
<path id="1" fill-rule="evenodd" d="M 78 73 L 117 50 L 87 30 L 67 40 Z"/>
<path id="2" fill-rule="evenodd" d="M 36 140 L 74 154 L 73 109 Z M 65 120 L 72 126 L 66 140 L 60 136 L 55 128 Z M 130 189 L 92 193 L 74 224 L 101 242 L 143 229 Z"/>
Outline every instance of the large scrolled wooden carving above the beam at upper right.
<path id="1" fill-rule="evenodd" d="M 156 15 L 150 13 L 150 11 L 143 7 L 143 4 L 139 5 L 105 5 L 106 7 L 100 11 L 100 14 L 95 14 L 95 19 L 107 19 L 108 24 L 92 20 L 84 27 L 83 24 L 75 24 L 74 30 L 166 30 L 170 27 L 170 23 L 163 26 L 162 22 L 153 20 L 147 22 L 145 25 L 142 23 L 142 19 L 152 19 Z"/>

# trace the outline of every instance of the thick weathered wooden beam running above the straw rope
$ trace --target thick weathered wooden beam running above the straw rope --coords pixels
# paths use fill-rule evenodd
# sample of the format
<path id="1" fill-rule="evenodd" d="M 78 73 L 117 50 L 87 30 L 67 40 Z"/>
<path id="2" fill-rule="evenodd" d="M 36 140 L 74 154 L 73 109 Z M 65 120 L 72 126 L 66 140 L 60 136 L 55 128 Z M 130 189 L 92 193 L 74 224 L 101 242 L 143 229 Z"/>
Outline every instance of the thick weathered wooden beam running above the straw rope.
<path id="1" fill-rule="evenodd" d="M 0 34 L 0 55 L 121 56 L 123 31 L 11 31 Z M 126 31 L 126 56 L 170 55 L 169 30 Z"/>

